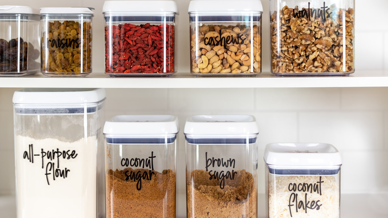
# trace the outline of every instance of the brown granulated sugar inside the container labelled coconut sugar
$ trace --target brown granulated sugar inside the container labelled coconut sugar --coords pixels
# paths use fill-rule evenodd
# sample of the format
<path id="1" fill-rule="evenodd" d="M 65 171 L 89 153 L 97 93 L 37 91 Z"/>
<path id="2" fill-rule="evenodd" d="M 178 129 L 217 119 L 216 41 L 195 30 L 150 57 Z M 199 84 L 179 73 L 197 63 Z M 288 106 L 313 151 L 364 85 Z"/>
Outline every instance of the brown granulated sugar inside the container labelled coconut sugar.
<path id="1" fill-rule="evenodd" d="M 151 180 L 126 181 L 125 172 L 152 172 Z M 106 218 L 175 218 L 175 173 L 109 170 L 106 176 Z"/>

